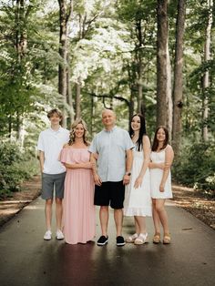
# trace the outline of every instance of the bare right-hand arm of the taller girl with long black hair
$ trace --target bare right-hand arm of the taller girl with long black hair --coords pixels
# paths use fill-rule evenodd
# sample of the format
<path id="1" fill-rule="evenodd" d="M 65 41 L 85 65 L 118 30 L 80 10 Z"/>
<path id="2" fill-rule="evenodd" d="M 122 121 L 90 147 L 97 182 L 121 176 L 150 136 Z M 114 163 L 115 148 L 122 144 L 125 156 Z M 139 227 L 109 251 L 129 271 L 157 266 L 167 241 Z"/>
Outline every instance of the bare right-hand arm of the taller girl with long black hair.
<path id="1" fill-rule="evenodd" d="M 148 164 L 150 161 L 150 141 L 148 136 L 143 136 L 142 143 L 143 143 L 144 161 L 140 173 L 138 175 L 138 178 L 136 179 L 134 184 L 135 189 L 138 189 L 138 187 L 141 186 L 143 177 L 146 173 L 146 170 L 148 169 Z"/>

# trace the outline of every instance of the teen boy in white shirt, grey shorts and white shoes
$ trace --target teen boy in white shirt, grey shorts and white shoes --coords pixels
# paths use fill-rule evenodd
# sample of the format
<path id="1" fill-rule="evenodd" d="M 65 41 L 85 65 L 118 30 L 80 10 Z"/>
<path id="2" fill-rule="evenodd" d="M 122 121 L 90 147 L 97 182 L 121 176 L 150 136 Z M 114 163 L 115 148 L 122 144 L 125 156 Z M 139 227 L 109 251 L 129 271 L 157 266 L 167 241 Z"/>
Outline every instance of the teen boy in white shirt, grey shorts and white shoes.
<path id="1" fill-rule="evenodd" d="M 47 113 L 47 117 L 51 127 L 40 133 L 37 143 L 42 173 L 42 199 L 46 199 L 46 233 L 44 240 L 51 240 L 52 238 L 51 220 L 54 190 L 56 200 L 56 240 L 63 240 L 61 220 L 66 168 L 60 163 L 58 156 L 64 144 L 68 142 L 69 131 L 60 126 L 62 113 L 58 109 L 50 110 Z"/>

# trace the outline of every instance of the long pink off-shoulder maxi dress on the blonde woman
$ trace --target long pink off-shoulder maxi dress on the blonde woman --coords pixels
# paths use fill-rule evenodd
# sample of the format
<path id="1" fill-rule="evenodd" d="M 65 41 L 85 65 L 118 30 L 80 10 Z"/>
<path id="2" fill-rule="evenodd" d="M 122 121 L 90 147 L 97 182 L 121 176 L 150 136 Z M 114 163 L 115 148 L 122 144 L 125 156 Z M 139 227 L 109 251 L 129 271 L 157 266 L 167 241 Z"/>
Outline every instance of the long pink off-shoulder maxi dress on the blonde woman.
<path id="1" fill-rule="evenodd" d="M 63 148 L 60 161 L 67 164 L 89 161 L 87 148 Z M 96 236 L 94 180 L 92 169 L 67 169 L 63 199 L 63 232 L 69 244 L 87 243 Z"/>

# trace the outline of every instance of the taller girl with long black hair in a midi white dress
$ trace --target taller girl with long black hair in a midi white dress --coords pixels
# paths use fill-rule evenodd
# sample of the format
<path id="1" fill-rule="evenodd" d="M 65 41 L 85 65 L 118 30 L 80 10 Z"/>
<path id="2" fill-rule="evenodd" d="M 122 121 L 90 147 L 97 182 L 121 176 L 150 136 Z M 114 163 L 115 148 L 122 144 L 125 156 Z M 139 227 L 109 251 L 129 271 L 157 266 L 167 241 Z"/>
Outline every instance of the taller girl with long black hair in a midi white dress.
<path id="1" fill-rule="evenodd" d="M 124 215 L 134 216 L 136 233 L 126 241 L 143 244 L 148 238 L 145 217 L 151 217 L 152 211 L 148 170 L 150 141 L 146 134 L 145 118 L 141 114 L 131 118 L 129 133 L 136 148 L 133 149 L 130 182 L 126 186 Z"/>

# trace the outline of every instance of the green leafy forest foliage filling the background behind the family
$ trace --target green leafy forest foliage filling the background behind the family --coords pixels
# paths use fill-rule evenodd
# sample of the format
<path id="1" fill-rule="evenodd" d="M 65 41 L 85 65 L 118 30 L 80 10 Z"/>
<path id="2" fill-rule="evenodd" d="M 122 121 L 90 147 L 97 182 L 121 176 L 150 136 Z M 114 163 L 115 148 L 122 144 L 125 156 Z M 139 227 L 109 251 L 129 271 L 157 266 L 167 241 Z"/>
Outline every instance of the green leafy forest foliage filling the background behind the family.
<path id="1" fill-rule="evenodd" d="M 0 1 L 0 136 L 4 140 L 9 136 L 20 140 L 22 128 L 25 136 L 20 145 L 25 151 L 20 152 L 14 144 L 0 148 L 0 189 L 15 189 L 17 182 L 27 178 L 27 170 L 36 164 L 36 140 L 39 131 L 46 128 L 46 111 L 50 107 L 62 106 L 65 100 L 57 92 L 58 65 L 65 65 L 58 54 L 58 3 L 25 1 L 25 11 L 19 11 L 22 15 L 19 21 L 16 20 L 17 3 Z M 168 10 L 171 64 L 175 55 L 177 4 L 178 1 L 170 1 Z M 156 7 L 157 2 L 151 0 L 74 1 L 68 26 L 69 81 L 75 110 L 76 83 L 81 81 L 81 116 L 87 121 L 90 135 L 102 128 L 100 116 L 104 107 L 113 107 L 118 125 L 128 129 L 128 104 L 134 106 L 134 112 L 137 111 L 141 63 L 142 101 L 146 109 L 148 135 L 153 137 L 157 89 Z M 215 113 L 212 112 L 215 110 L 215 21 L 211 30 L 211 60 L 203 60 L 208 15 L 206 0 L 187 1 L 182 134 L 184 137 L 191 134 L 192 138 L 189 137 L 189 144 L 181 144 L 183 151 L 174 169 L 179 182 L 200 189 L 214 189 L 215 180 L 210 168 L 214 167 L 214 143 L 207 148 L 200 143 L 190 146 L 193 138 L 200 140 L 201 128 L 206 124 L 210 139 L 215 136 Z M 16 36 L 21 35 L 26 36 L 26 48 L 20 56 L 15 44 L 18 43 Z M 210 87 L 202 91 L 202 76 L 207 70 Z M 107 97 L 104 99 L 104 96 Z M 123 97 L 124 100 L 114 97 Z M 202 120 L 203 97 L 208 97 L 209 106 L 209 117 L 205 121 Z M 209 162 L 210 166 L 207 165 Z"/>

